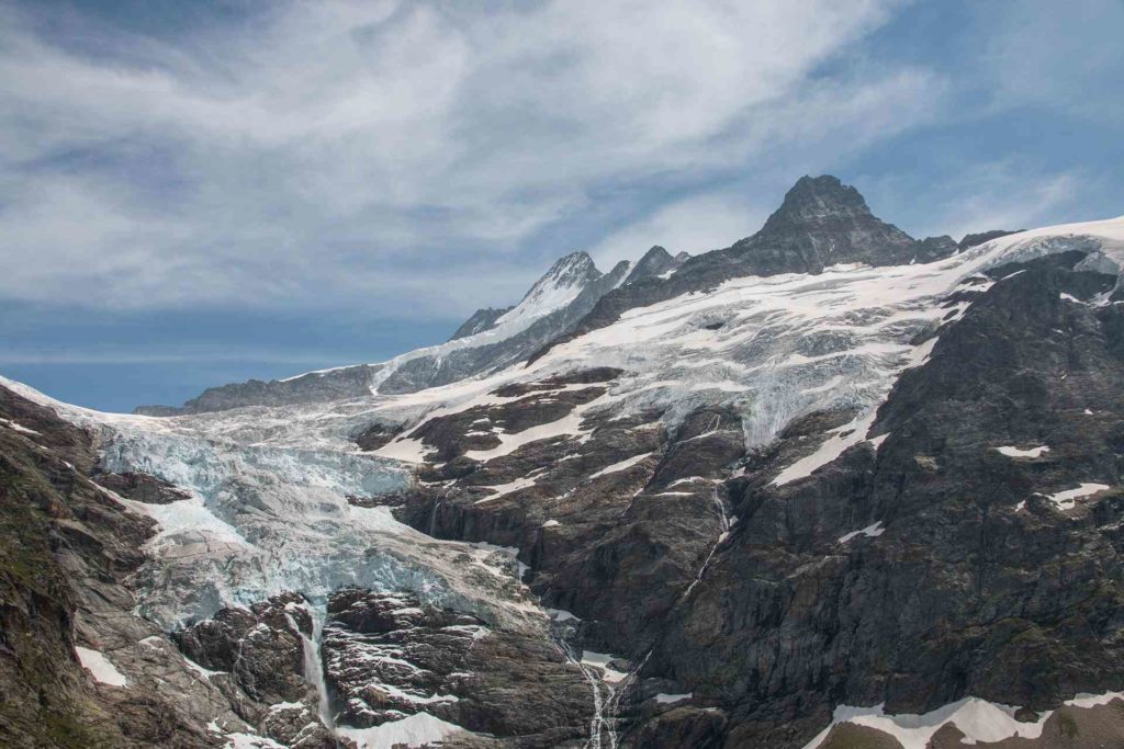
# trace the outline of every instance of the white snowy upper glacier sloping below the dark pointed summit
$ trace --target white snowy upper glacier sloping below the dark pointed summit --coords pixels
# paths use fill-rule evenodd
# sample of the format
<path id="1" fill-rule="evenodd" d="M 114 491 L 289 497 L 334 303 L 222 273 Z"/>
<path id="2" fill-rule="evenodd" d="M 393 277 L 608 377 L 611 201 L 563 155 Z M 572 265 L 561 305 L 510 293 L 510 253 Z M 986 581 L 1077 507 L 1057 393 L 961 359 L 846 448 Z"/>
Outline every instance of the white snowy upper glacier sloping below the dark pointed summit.
<path id="1" fill-rule="evenodd" d="M 955 319 L 950 312 L 959 314 L 968 304 L 946 307 L 942 300 L 992 283 L 981 276 L 989 268 L 1070 249 L 1093 250 L 1086 261 L 1090 266 L 1118 267 L 1124 217 L 1009 235 L 926 265 L 852 265 L 818 275 L 736 278 L 710 293 L 629 310 L 618 322 L 558 346 L 525 368 L 373 404 L 388 419 L 417 421 L 429 409 L 447 413 L 479 405 L 481 399 L 496 402 L 487 393 L 510 382 L 610 366 L 628 376 L 586 408 L 619 413 L 659 408 L 674 418 L 704 403 L 731 403 L 743 415 L 751 447 L 813 411 L 858 409 L 858 426 L 869 422 L 897 375 L 924 360 L 935 342 L 928 337 L 915 345 L 914 339 Z M 556 424 L 554 433 L 575 429 L 572 421 Z M 380 455 L 420 460 L 420 451 L 406 449 L 409 442 L 407 431 Z"/>

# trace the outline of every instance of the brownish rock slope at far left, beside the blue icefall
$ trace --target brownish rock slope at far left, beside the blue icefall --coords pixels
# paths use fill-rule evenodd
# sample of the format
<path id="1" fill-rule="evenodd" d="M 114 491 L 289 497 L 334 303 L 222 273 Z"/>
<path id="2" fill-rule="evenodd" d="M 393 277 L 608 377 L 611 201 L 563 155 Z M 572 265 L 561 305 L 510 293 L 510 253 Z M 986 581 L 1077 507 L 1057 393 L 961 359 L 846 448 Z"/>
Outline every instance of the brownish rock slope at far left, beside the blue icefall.
<path id="1" fill-rule="evenodd" d="M 90 436 L 3 387 L 0 419 L 0 745 L 210 747 L 251 730 L 132 613 L 154 523 L 87 477 Z"/>

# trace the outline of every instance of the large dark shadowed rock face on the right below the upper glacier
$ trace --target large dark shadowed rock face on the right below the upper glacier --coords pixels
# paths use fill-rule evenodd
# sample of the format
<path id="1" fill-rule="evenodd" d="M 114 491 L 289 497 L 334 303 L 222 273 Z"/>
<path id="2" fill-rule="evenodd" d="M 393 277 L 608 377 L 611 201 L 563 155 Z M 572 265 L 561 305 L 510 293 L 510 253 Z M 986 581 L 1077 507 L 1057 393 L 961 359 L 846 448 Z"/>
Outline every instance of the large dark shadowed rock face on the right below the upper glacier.
<path id="1" fill-rule="evenodd" d="M 749 464 L 741 521 L 645 668 L 729 720 L 713 746 L 803 746 L 839 703 L 1043 710 L 1124 686 L 1124 495 L 1050 499 L 1120 483 L 1124 313 L 1079 301 L 1114 278 L 1066 261 L 996 270 L 879 410 L 880 446 L 780 487 Z M 692 720 L 636 746 L 688 746 Z"/>

